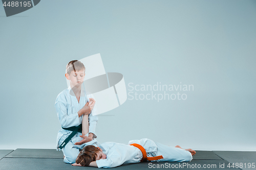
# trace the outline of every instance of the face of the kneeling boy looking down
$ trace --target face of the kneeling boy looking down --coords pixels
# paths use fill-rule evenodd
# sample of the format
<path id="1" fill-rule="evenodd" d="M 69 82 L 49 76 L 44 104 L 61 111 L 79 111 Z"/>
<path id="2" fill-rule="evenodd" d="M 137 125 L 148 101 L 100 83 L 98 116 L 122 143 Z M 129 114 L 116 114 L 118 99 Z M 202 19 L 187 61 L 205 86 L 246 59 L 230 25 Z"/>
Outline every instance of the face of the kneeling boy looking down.
<path id="1" fill-rule="evenodd" d="M 71 71 L 70 75 L 66 73 L 66 78 L 70 81 L 71 87 L 73 86 L 81 86 L 84 79 L 85 71 Z"/>

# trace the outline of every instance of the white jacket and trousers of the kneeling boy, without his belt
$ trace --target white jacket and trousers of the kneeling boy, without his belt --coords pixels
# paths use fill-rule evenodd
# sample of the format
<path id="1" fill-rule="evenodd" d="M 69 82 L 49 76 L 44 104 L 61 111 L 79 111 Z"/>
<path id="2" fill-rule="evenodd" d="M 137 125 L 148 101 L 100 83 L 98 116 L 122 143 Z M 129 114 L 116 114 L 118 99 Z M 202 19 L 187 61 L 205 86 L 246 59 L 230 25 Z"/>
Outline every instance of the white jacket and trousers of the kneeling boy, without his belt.
<path id="1" fill-rule="evenodd" d="M 86 94 L 86 92 L 81 89 L 80 100 L 78 103 L 71 87 L 63 90 L 58 94 L 55 102 L 55 108 L 61 127 L 69 128 L 73 126 L 79 126 L 82 123 L 82 116 L 78 117 L 77 112 L 87 103 L 86 98 L 94 99 L 94 96 L 92 94 Z M 75 163 L 76 158 L 79 154 L 79 150 L 81 150 L 86 145 L 94 145 L 95 147 L 98 146 L 98 141 L 95 139 L 97 137 L 95 130 L 98 121 L 98 116 L 93 116 L 93 113 L 97 111 L 96 105 L 97 104 L 95 103 L 92 113 L 88 116 L 89 133 L 94 134 L 93 140 L 87 143 L 83 143 L 81 145 L 75 145 L 74 143 L 80 142 L 83 139 L 79 136 L 82 135 L 82 133 L 78 132 L 62 149 L 62 152 L 65 156 L 64 162 Z M 56 143 L 57 148 L 71 133 L 72 131 L 68 131 L 62 128 L 58 131 Z M 87 136 L 89 135 L 89 133 L 87 134 Z"/>

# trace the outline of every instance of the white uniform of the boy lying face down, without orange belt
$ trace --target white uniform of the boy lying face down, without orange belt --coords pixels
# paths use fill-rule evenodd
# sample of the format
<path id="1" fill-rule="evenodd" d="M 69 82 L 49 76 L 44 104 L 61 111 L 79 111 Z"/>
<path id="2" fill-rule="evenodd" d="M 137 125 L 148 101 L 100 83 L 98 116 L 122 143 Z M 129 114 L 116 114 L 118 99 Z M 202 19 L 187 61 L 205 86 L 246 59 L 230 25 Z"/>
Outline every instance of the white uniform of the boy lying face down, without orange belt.
<path id="1" fill-rule="evenodd" d="M 140 144 L 145 149 L 147 157 L 162 155 L 163 159 L 157 160 L 158 162 L 190 162 L 192 160 L 192 155 L 189 151 L 169 147 L 150 139 L 144 138 L 129 141 L 129 144 L 132 143 Z M 106 154 L 106 159 L 96 160 L 98 167 L 110 168 L 122 164 L 139 163 L 143 157 L 141 151 L 132 145 L 104 142 L 99 145 L 99 148 Z"/>

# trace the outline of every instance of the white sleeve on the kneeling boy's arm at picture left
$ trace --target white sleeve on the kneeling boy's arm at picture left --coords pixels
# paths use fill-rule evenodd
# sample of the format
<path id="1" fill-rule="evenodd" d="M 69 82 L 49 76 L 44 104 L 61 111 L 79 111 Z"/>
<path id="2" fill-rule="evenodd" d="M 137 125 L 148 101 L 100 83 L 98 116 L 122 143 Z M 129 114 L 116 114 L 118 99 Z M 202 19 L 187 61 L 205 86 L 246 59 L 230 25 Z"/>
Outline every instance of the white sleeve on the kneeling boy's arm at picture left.
<path id="1" fill-rule="evenodd" d="M 58 115 L 58 119 L 61 127 L 69 128 L 79 125 L 79 116 L 77 112 L 68 115 L 68 102 L 65 98 L 65 94 L 60 93 L 57 96 L 55 102 L 55 109 Z M 71 109 L 71 108 L 70 108 Z"/>

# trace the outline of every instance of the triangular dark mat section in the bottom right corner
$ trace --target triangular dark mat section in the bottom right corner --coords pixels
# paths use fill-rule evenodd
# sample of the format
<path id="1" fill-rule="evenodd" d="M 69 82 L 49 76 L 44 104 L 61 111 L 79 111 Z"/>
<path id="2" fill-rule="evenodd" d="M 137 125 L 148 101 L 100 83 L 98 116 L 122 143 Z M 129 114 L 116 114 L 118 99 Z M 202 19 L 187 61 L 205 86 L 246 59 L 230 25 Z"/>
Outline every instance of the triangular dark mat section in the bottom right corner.
<path id="1" fill-rule="evenodd" d="M 256 152 L 253 151 L 213 151 L 222 159 L 227 160 L 230 163 L 234 163 L 234 166 L 239 165 L 243 170 L 250 169 L 256 170 Z M 254 164 L 252 164 L 254 163 Z M 253 167 L 253 165 L 255 165 Z"/>

